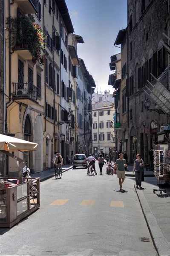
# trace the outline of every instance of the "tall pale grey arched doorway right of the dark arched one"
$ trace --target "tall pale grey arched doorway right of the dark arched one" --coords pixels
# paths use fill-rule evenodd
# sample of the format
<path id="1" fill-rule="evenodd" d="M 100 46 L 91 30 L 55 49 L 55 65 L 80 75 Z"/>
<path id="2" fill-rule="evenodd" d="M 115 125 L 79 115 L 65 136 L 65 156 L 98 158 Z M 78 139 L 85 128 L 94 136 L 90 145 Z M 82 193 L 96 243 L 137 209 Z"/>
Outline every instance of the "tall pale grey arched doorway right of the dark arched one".
<path id="1" fill-rule="evenodd" d="M 35 143 L 38 144 L 38 150 L 35 151 L 34 172 L 43 171 L 43 123 L 40 116 L 35 120 Z"/>

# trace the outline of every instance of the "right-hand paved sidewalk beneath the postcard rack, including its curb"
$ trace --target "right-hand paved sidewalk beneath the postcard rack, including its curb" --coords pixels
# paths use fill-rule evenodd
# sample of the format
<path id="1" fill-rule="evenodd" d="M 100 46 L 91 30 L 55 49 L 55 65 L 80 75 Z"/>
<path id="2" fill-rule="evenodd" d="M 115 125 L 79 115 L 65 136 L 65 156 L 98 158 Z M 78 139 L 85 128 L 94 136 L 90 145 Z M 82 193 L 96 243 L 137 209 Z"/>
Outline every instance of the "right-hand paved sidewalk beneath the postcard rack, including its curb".
<path id="1" fill-rule="evenodd" d="M 135 191 L 153 243 L 158 255 L 170 256 L 170 186 L 163 182 L 162 188 L 166 188 L 167 192 L 160 194 L 159 191 L 156 191 L 154 194 L 153 189 L 158 189 L 156 178 L 146 177 L 142 182 L 142 187 L 144 189 L 135 188 Z"/>

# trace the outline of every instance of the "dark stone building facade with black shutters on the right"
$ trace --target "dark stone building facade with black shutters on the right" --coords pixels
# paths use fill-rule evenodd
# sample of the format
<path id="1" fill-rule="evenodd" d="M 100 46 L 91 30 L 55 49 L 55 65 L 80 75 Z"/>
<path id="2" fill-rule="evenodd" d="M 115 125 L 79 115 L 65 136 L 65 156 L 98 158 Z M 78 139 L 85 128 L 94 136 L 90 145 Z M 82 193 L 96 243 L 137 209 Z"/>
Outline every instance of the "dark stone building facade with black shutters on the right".
<path id="1" fill-rule="evenodd" d="M 161 125 L 167 125 L 168 122 L 166 115 L 147 111 L 145 107 L 148 97 L 145 88 L 150 87 L 148 81 L 151 84 L 156 82 L 153 76 L 161 79 L 161 83 L 169 90 L 168 73 L 161 77 L 168 65 L 168 54 L 161 43 L 166 42 L 162 33 L 168 35 L 167 14 L 167 0 L 128 1 L 127 121 L 131 163 L 136 153 L 140 153 L 145 163 L 148 163 L 148 151 L 158 143 L 157 132 Z M 158 108 L 156 102 L 151 98 L 150 101 L 151 109 Z"/>

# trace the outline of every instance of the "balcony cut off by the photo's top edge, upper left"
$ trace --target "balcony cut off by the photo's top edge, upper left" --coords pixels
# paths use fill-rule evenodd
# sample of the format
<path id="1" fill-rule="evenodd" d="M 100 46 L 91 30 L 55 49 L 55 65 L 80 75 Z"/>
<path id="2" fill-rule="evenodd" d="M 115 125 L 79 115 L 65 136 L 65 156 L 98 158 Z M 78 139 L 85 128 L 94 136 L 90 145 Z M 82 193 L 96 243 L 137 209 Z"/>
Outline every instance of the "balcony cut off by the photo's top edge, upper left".
<path id="1" fill-rule="evenodd" d="M 37 0 L 14 0 L 25 14 L 37 13 Z"/>

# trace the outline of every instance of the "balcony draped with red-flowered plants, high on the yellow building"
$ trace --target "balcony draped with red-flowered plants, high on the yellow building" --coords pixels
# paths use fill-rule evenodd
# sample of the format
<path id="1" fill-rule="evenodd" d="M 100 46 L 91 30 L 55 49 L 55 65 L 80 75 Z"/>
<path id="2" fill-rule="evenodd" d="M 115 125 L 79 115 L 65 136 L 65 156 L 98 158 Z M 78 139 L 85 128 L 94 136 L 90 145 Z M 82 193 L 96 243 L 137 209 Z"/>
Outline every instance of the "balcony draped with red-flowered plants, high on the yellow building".
<path id="1" fill-rule="evenodd" d="M 29 52 L 26 35 L 21 36 L 20 33 L 15 33 L 11 36 L 11 42 L 13 51 L 17 51 L 18 55 L 20 55 L 25 60 L 32 60 L 32 54 Z"/>

